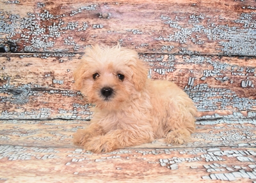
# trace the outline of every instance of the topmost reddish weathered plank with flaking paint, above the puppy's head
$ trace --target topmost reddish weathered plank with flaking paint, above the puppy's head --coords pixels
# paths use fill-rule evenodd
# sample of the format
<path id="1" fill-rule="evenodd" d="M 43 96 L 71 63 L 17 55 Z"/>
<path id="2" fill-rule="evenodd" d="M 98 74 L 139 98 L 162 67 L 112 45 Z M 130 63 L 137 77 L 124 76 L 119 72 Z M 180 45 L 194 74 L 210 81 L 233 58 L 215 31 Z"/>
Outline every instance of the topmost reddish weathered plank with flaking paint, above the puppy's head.
<path id="1" fill-rule="evenodd" d="M 255 1 L 1 1 L 12 52 L 83 52 L 108 43 L 141 53 L 255 56 Z"/>

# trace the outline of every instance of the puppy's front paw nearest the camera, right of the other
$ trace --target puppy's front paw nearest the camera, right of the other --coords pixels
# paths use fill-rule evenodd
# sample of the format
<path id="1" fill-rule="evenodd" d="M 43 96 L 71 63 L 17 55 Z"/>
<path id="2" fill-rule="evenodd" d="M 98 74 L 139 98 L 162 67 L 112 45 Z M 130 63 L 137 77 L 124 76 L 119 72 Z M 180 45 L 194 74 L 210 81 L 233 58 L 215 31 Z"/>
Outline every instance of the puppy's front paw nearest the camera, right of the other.
<path id="1" fill-rule="evenodd" d="M 92 152 L 110 152 L 117 149 L 115 142 L 105 136 L 95 136 L 84 144 L 84 149 Z"/>

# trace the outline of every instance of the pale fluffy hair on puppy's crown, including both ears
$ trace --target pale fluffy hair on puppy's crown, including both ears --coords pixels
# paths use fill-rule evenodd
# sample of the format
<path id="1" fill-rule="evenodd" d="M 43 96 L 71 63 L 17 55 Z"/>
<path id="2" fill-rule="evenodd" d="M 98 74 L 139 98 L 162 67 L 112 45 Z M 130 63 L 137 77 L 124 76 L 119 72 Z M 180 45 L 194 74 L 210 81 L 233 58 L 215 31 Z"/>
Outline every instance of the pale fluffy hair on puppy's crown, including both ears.
<path id="1" fill-rule="evenodd" d="M 86 48 L 83 62 L 74 72 L 77 90 L 83 87 L 83 78 L 88 74 L 88 70 L 93 70 L 89 66 L 90 63 L 93 63 L 99 69 L 109 63 L 112 63 L 116 67 L 124 64 L 131 68 L 131 82 L 134 84 L 134 87 L 140 91 L 145 86 L 148 70 L 145 64 L 139 59 L 136 51 L 129 48 L 122 48 L 119 44 L 114 47 L 92 45 L 92 47 Z M 96 68 L 94 69 L 97 70 Z"/>

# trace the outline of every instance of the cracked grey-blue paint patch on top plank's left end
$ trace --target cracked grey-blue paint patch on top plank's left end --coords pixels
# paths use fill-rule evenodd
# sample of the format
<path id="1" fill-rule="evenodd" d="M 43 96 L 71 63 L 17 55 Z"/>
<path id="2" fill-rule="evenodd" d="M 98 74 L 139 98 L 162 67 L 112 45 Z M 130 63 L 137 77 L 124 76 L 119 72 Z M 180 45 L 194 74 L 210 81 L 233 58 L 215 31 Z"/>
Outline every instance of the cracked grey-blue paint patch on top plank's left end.
<path id="1" fill-rule="evenodd" d="M 44 3 L 37 4 L 38 8 L 44 8 Z M 54 15 L 48 10 L 42 11 L 42 13 L 28 13 L 28 17 L 20 18 L 19 15 L 11 15 L 8 18 L 2 20 L 4 26 L 0 31 L 2 33 L 9 34 L 7 36 L 8 41 L 13 43 L 26 43 L 25 47 L 21 51 L 24 52 L 36 52 L 37 50 L 47 51 L 47 48 L 54 47 L 56 38 L 60 38 L 65 31 L 86 31 L 88 24 L 82 22 L 65 22 L 63 18 L 72 17 L 77 13 L 83 13 L 83 11 L 94 11 L 96 10 L 96 5 L 92 4 L 90 6 L 82 6 L 78 10 L 72 10 L 69 15 Z M 18 21 L 19 19 L 19 21 Z M 40 22 L 40 24 L 39 24 Z M 49 22 L 45 26 L 44 22 Z M 98 26 L 96 26 L 97 28 Z M 99 25 L 99 28 L 102 28 Z M 17 29 L 22 29 L 22 33 L 17 32 Z M 20 38 L 13 40 L 13 36 L 20 34 Z M 67 44 L 64 42 L 64 45 Z M 74 44 L 74 50 L 78 50 L 79 45 Z"/>

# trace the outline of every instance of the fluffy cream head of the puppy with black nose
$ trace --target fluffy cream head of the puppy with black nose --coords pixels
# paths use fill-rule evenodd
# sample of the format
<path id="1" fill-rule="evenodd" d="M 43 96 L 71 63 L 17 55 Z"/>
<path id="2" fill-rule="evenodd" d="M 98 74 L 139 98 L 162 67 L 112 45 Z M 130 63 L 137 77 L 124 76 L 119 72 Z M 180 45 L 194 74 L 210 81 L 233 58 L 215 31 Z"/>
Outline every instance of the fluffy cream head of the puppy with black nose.
<path id="1" fill-rule="evenodd" d="M 95 45 L 74 72 L 76 89 L 99 108 L 118 108 L 136 97 L 145 87 L 147 68 L 137 52 Z"/>

